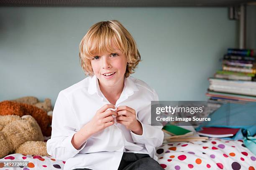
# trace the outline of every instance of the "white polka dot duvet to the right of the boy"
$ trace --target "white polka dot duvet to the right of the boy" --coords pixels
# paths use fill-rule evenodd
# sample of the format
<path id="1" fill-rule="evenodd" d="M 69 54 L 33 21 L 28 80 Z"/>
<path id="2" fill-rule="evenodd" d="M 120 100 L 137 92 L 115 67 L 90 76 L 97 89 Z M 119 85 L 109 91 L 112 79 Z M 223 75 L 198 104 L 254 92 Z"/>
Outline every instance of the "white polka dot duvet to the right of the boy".
<path id="1" fill-rule="evenodd" d="M 255 170 L 256 157 L 242 140 L 165 143 L 156 148 L 165 170 Z"/>

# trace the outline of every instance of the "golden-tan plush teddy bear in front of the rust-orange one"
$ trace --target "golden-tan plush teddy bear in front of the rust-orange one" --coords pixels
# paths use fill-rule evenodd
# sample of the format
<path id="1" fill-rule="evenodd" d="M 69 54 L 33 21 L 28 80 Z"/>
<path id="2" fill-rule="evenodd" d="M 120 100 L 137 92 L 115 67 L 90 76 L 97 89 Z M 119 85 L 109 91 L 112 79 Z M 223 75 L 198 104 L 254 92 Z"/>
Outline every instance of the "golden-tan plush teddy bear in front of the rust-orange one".
<path id="1" fill-rule="evenodd" d="M 48 155 L 44 136 L 31 115 L 0 116 L 0 148 L 0 158 L 12 153 Z"/>

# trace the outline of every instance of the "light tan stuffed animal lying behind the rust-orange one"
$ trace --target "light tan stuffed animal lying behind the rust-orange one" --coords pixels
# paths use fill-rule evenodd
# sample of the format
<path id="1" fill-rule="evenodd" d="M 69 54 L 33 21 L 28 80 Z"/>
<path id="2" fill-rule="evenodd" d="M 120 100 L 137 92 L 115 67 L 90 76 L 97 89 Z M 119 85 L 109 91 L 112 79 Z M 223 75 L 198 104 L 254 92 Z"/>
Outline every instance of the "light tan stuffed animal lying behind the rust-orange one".
<path id="1" fill-rule="evenodd" d="M 43 109 L 46 112 L 49 112 L 52 110 L 51 107 L 51 99 L 46 98 L 44 102 L 39 102 L 38 98 L 33 96 L 27 96 L 27 97 L 21 97 L 15 100 L 11 100 L 13 102 L 20 102 L 20 103 L 26 103 L 28 105 L 34 105 L 38 108 Z"/>

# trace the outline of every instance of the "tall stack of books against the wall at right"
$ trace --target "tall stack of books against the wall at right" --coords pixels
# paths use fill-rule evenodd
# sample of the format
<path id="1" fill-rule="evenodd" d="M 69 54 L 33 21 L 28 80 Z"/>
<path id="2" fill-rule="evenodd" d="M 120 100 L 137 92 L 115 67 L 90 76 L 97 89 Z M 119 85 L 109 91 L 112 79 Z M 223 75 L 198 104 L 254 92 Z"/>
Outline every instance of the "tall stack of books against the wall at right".
<path id="1" fill-rule="evenodd" d="M 228 49 L 222 70 L 208 80 L 210 100 L 241 103 L 256 101 L 256 50 Z"/>

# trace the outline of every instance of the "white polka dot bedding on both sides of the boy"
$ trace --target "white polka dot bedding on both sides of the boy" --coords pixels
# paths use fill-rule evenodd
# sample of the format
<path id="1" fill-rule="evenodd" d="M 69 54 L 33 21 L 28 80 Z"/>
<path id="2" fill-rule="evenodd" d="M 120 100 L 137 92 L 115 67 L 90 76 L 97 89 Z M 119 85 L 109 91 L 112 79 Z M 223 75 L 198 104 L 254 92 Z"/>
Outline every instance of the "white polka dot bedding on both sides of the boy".
<path id="1" fill-rule="evenodd" d="M 256 156 L 242 140 L 209 138 L 206 141 L 164 143 L 156 148 L 159 164 L 165 170 L 255 170 Z M 61 170 L 65 161 L 51 156 L 11 154 L 0 161 L 28 161 L 28 167 L 2 170 Z"/>

